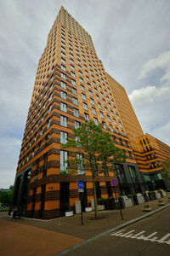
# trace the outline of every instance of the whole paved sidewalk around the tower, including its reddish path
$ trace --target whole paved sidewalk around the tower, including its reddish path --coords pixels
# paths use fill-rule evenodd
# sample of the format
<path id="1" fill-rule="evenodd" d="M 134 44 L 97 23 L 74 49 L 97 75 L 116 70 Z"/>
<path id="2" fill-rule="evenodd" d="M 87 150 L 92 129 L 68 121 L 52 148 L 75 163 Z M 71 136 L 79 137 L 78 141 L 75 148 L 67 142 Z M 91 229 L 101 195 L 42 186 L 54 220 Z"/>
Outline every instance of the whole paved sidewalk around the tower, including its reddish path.
<path id="1" fill-rule="evenodd" d="M 163 200 L 166 205 L 170 203 L 167 197 Z M 147 204 L 153 211 L 161 208 L 157 200 Z M 13 222 L 6 216 L 7 213 L 1 212 L 0 255 L 11 255 L 11 253 L 5 253 L 7 249 L 8 252 L 11 250 L 13 255 L 54 255 L 106 230 L 143 216 L 147 213 L 142 212 L 143 205 L 123 209 L 123 220 L 118 210 L 99 212 L 99 219 L 94 218 L 94 212 L 85 212 L 83 225 L 80 214 L 48 221 L 20 218 Z M 170 207 L 168 209 L 170 211 Z M 17 244 L 18 247 L 16 247 Z M 31 248 L 30 252 L 28 248 L 29 250 Z M 41 252 L 40 248 L 42 248 Z"/>

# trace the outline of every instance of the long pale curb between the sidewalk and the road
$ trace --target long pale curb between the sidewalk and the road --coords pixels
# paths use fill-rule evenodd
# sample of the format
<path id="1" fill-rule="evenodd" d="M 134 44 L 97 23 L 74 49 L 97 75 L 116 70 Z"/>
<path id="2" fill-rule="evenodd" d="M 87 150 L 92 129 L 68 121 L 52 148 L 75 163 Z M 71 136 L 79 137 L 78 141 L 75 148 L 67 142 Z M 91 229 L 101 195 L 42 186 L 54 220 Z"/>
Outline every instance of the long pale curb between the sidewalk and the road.
<path id="1" fill-rule="evenodd" d="M 82 241 L 81 243 L 77 244 L 77 245 L 74 246 L 74 247 L 70 247 L 70 248 L 66 249 L 65 251 L 63 251 L 63 252 L 61 252 L 61 253 L 54 254 L 54 256 L 61 256 L 61 255 L 65 255 L 66 253 L 70 253 L 70 252 L 74 251 L 75 249 L 77 249 L 78 247 L 82 247 L 83 245 L 88 244 L 88 242 L 90 242 L 90 241 L 94 241 L 94 240 L 98 239 L 99 237 L 105 236 L 105 235 L 107 235 L 107 234 L 109 234 L 109 233 L 111 233 L 111 232 L 113 232 L 113 231 L 121 230 L 122 228 L 127 227 L 127 226 L 130 225 L 130 224 L 134 224 L 134 223 L 138 222 L 138 221 L 141 220 L 141 219 L 148 218 L 148 217 L 150 217 L 151 215 L 155 214 L 156 212 L 160 212 L 160 211 L 166 209 L 167 207 L 170 207 L 170 204 L 168 204 L 168 205 L 165 206 L 165 207 L 161 207 L 161 208 L 159 208 L 159 209 L 156 209 L 156 210 L 153 211 L 153 212 L 149 212 L 149 213 L 147 213 L 147 214 L 144 214 L 143 216 L 140 216 L 140 217 L 138 217 L 138 218 L 134 218 L 134 219 L 132 219 L 132 220 L 129 220 L 129 221 L 127 221 L 125 224 L 120 224 L 120 225 L 118 225 L 118 226 L 116 226 L 116 227 L 114 227 L 114 228 L 112 228 L 112 229 L 110 229 L 110 230 L 106 230 L 106 231 L 104 231 L 104 232 L 102 232 L 102 233 L 100 233 L 100 234 L 98 234 L 98 235 L 96 235 L 96 236 L 93 236 L 93 237 L 89 238 L 89 239 L 86 240 L 86 241 Z"/>

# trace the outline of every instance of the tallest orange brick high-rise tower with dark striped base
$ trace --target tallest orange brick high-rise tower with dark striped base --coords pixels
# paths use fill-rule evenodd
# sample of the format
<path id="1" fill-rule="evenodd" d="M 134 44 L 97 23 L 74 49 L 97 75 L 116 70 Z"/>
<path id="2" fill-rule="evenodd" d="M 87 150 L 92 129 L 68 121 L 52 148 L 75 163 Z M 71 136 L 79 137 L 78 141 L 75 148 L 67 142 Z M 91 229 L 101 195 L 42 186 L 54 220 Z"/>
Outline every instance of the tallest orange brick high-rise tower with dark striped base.
<path id="1" fill-rule="evenodd" d="M 140 125 L 138 131 L 135 125 L 127 129 L 126 106 L 122 111 L 118 97 L 91 36 L 61 7 L 38 63 L 14 183 L 13 204 L 23 207 L 26 216 L 55 218 L 74 209 L 81 178 L 85 205 L 93 198 L 90 172 L 64 175 L 65 160 L 74 153 L 60 148 L 85 120 L 102 123 L 113 143 L 127 154 L 126 163 L 116 165 L 115 174 L 96 177 L 98 197 L 112 195 L 112 177 L 117 177 L 121 195 L 144 191 L 144 178 L 133 154 L 139 151 L 133 137 L 144 134 Z M 133 121 L 139 123 L 137 118 Z"/>

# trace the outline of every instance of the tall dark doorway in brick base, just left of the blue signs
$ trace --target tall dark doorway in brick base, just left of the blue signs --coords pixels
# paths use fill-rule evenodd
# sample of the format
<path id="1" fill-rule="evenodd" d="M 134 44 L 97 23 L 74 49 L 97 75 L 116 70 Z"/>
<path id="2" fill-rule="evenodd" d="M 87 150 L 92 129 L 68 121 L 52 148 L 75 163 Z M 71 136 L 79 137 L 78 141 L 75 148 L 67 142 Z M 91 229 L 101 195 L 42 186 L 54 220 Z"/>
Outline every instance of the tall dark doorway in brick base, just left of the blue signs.
<path id="1" fill-rule="evenodd" d="M 69 211 L 69 183 L 60 183 L 59 212 L 61 216 Z"/>

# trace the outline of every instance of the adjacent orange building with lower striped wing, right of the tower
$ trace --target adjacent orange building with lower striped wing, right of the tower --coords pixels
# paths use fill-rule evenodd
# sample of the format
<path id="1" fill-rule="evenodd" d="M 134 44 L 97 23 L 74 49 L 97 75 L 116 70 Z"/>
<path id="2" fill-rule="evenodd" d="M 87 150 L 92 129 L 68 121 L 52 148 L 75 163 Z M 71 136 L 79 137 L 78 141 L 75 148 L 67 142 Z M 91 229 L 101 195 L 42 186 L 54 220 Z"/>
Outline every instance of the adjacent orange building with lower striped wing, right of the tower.
<path id="1" fill-rule="evenodd" d="M 170 183 L 164 181 L 161 177 L 161 162 L 170 158 L 170 147 L 148 133 L 144 135 L 126 90 L 108 73 L 107 78 L 127 132 L 129 143 L 133 148 L 139 172 L 142 173 L 144 182 L 147 183 L 147 189 L 166 189 L 170 186 Z"/>

